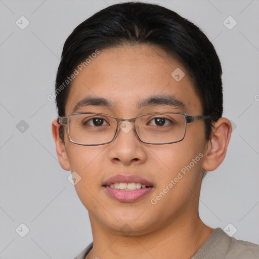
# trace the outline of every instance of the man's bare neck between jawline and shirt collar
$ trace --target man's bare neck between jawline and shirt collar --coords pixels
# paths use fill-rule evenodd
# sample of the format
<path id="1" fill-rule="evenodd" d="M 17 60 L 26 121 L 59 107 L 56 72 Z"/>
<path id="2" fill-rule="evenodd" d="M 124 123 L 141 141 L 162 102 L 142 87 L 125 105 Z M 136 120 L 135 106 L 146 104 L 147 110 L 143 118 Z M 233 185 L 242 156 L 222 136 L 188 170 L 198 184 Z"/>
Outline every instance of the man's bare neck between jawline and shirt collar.
<path id="1" fill-rule="evenodd" d="M 94 247 L 87 259 L 190 259 L 213 232 L 199 216 L 176 219 L 152 232 L 128 236 L 101 227 L 91 215 L 90 220 Z"/>

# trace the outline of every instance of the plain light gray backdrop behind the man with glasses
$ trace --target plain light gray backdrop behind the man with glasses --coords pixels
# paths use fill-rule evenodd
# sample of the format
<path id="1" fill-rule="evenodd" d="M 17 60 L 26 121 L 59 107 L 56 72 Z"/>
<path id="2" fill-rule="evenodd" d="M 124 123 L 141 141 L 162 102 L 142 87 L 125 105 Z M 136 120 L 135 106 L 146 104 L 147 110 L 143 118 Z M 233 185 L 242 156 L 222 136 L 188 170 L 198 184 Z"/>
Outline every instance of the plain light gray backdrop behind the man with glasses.
<path id="1" fill-rule="evenodd" d="M 92 241 L 87 210 L 57 160 L 56 107 L 47 96 L 72 29 L 115 3 L 0 0 L 0 258 L 71 259 Z M 148 3 L 193 21 L 220 56 L 224 116 L 233 133 L 225 161 L 203 180 L 200 216 L 213 228 L 231 223 L 235 238 L 259 244 L 259 1 Z M 29 21 L 24 30 L 16 25 L 21 16 Z M 224 25 L 229 16 L 237 21 L 232 29 Z M 22 223 L 30 230 L 25 237 Z"/>

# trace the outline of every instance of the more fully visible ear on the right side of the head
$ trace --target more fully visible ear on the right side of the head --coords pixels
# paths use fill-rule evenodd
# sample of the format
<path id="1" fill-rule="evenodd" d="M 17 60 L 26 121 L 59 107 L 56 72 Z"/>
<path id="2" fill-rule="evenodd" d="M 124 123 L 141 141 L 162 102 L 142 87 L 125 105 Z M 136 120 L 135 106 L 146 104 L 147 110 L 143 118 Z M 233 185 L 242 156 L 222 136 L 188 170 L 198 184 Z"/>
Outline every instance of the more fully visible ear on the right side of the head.
<path id="1" fill-rule="evenodd" d="M 224 160 L 231 136 L 231 122 L 227 118 L 220 118 L 214 122 L 211 139 L 207 143 L 205 159 L 202 169 L 215 170 Z"/>

